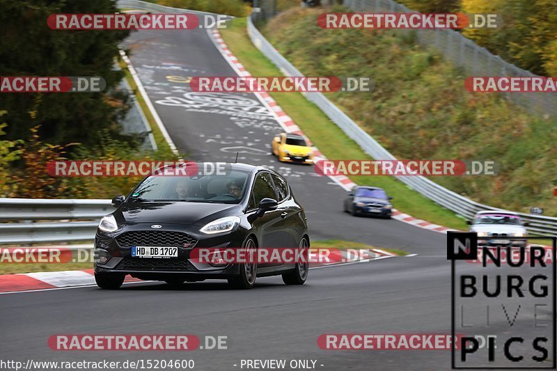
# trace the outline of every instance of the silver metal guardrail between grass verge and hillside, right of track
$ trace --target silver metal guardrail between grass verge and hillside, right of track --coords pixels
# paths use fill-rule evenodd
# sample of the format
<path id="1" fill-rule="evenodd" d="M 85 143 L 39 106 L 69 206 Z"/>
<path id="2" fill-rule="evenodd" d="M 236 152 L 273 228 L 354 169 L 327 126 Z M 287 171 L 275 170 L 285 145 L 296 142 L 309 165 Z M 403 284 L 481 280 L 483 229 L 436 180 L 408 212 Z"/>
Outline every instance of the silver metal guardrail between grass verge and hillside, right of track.
<path id="1" fill-rule="evenodd" d="M 253 14 L 252 14 L 253 16 Z M 267 39 L 259 32 L 256 26 L 253 24 L 251 17 L 248 17 L 247 31 L 249 38 L 253 45 L 255 45 L 262 54 L 267 56 L 276 67 L 287 76 L 304 76 L 297 70 L 297 68 L 292 65 L 286 58 L 284 58 L 276 49 L 271 45 Z M 340 111 L 338 107 L 327 99 L 322 93 L 305 93 L 304 94 L 308 100 L 313 102 L 321 111 L 323 111 L 330 119 L 333 121 L 340 129 L 347 134 L 352 140 L 354 140 L 361 149 L 368 155 L 377 160 L 393 160 L 396 159 L 391 152 L 382 147 L 375 139 L 373 139 L 368 133 L 366 133 L 361 127 L 359 127 L 354 120 L 348 117 L 343 111 Z M 452 210 L 460 216 L 464 216 L 466 219 L 472 219 L 476 212 L 481 210 L 499 210 L 497 207 L 491 207 L 487 205 L 482 205 L 476 203 L 473 200 L 469 200 L 459 194 L 456 194 L 449 189 L 441 187 L 439 184 L 432 182 L 431 180 L 423 176 L 398 176 L 400 182 L 407 184 L 408 187 L 414 189 L 419 194 L 433 200 L 435 203 L 446 207 L 448 210 Z M 550 216 L 537 216 L 532 214 L 519 214 L 524 221 L 529 223 L 528 232 L 536 235 L 547 235 L 555 236 L 557 235 L 557 218 Z"/>

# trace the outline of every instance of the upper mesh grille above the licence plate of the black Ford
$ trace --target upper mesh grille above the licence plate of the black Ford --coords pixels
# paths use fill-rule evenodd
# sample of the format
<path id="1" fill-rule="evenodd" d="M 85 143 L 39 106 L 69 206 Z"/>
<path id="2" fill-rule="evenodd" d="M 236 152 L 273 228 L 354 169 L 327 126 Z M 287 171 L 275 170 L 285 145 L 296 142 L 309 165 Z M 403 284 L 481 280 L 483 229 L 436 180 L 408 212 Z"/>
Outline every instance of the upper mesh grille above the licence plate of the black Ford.
<path id="1" fill-rule="evenodd" d="M 132 246 L 168 246 L 192 248 L 197 244 L 197 239 L 187 233 L 171 232 L 165 230 L 134 230 L 125 232 L 116 237 L 120 247 Z"/>

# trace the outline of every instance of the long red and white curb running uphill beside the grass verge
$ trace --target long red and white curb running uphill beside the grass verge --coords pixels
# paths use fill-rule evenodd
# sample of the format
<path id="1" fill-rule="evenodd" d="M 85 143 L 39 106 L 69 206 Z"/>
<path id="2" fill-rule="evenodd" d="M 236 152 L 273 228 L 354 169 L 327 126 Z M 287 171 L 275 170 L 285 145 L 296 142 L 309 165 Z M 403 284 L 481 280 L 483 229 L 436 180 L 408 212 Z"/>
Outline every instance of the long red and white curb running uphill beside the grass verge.
<path id="1" fill-rule="evenodd" d="M 219 49 L 219 52 L 221 52 L 224 59 L 228 62 L 230 67 L 232 67 L 233 70 L 235 70 L 238 76 L 251 77 L 251 74 L 249 73 L 248 70 L 246 70 L 244 65 L 242 65 L 242 63 L 238 61 L 238 58 L 236 58 L 232 54 L 232 52 L 230 52 L 228 45 L 226 45 L 226 42 L 224 42 L 224 40 L 222 39 L 219 31 L 217 29 L 212 29 L 212 30 L 207 30 L 207 33 L 209 34 L 214 45 L 217 47 L 217 49 Z M 281 125 L 281 127 L 283 127 L 285 132 L 303 135 L 304 138 L 306 138 L 306 140 L 308 141 L 308 143 L 311 144 L 311 141 L 308 139 L 308 137 L 305 136 L 303 132 L 301 132 L 300 128 L 298 127 L 298 125 L 296 125 L 294 120 L 292 120 L 292 118 L 290 118 L 290 116 L 288 116 L 285 113 L 285 111 L 283 111 L 281 106 L 279 106 L 276 103 L 276 101 L 271 97 L 271 95 L 269 95 L 269 93 L 254 93 L 254 94 L 256 95 L 256 97 L 258 97 L 258 99 L 262 102 L 262 104 L 265 105 L 267 109 L 269 109 L 269 111 L 273 113 L 273 115 L 276 118 L 276 121 Z M 325 157 L 320 152 L 320 150 L 318 150 L 315 146 L 313 146 L 313 158 L 315 159 L 315 161 L 327 159 L 327 157 Z M 350 180 L 349 177 L 346 177 L 345 175 L 329 175 L 329 178 L 333 182 L 338 184 L 340 187 L 345 189 L 346 191 L 350 191 L 352 188 L 354 188 L 357 185 L 356 183 L 352 182 L 352 180 Z M 396 209 L 393 209 L 392 217 L 393 219 L 402 221 L 402 223 L 411 224 L 412 226 L 416 226 L 418 228 L 424 228 L 427 230 L 432 230 L 434 232 L 446 233 L 449 230 L 454 230 L 454 229 L 446 228 L 444 226 L 439 226 L 434 223 L 430 223 L 429 221 L 416 219 L 413 216 L 399 212 Z"/>

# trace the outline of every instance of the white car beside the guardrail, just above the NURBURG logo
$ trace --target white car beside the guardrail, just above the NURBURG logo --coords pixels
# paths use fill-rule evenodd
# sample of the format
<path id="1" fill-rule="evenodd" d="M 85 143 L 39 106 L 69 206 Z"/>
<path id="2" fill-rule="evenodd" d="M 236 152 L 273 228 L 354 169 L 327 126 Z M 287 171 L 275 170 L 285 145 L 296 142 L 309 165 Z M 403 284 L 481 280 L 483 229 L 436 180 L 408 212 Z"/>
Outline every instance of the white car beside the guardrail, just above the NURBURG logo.
<path id="1" fill-rule="evenodd" d="M 506 237 L 526 237 L 528 223 L 514 212 L 478 212 L 469 222 L 470 232 L 478 233 L 478 244 L 497 246 L 526 246 L 526 239 L 506 239 Z M 487 238 L 485 238 L 487 237 Z"/>

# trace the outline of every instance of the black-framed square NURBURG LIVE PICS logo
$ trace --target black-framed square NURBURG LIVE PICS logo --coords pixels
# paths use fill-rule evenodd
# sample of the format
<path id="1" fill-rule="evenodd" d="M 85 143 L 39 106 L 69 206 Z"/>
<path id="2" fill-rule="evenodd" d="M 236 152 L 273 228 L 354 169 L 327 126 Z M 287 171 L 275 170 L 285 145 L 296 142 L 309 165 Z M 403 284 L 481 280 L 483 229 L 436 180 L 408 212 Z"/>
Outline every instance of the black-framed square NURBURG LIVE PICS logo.
<path id="1" fill-rule="evenodd" d="M 476 232 L 447 233 L 451 336 L 473 334 L 453 343 L 452 367 L 555 369 L 556 264 L 544 256 L 549 248 L 555 256 L 557 237 L 527 237 L 528 243 L 550 239 L 551 247 L 524 246 L 524 237 L 488 238 L 489 246 L 478 246 Z M 506 259 L 511 252 L 517 258 Z M 478 259 L 480 265 L 466 264 Z M 480 338 L 487 346 L 480 347 Z"/>

